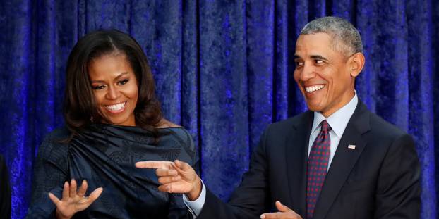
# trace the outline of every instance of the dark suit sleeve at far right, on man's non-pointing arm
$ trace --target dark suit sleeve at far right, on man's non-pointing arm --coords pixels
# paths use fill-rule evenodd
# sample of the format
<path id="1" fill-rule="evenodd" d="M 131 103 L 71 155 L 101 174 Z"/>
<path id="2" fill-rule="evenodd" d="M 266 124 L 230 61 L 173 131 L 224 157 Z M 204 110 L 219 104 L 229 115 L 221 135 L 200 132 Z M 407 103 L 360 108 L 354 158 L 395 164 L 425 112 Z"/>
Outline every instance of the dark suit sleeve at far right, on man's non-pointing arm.
<path id="1" fill-rule="evenodd" d="M 387 151 L 378 178 L 375 218 L 419 218 L 420 165 L 413 139 L 395 139 Z"/>

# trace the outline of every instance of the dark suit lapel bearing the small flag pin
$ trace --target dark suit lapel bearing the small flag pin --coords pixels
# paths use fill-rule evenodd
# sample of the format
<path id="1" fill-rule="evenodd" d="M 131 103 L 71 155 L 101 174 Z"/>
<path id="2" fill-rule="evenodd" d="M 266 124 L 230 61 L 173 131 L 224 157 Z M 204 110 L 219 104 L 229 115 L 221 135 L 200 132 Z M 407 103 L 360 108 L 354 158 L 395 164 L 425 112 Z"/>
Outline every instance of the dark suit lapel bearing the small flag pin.
<path id="1" fill-rule="evenodd" d="M 337 151 L 332 159 L 330 170 L 326 175 L 325 183 L 315 206 L 313 219 L 325 218 L 327 211 L 329 211 L 366 146 L 361 135 L 368 130 L 370 130 L 369 112 L 366 106 L 359 101 L 337 146 Z M 348 149 L 349 144 L 355 145 L 355 149 Z"/>

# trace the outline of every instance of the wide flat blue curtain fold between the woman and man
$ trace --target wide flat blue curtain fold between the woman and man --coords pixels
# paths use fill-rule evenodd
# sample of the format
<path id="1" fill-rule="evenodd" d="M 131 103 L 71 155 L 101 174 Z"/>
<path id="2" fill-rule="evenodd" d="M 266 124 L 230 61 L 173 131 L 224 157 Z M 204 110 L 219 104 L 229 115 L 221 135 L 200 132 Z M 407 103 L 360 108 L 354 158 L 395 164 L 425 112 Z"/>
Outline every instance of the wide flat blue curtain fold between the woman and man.
<path id="1" fill-rule="evenodd" d="M 227 199 L 248 168 L 246 5 L 200 1 L 198 9 L 201 170 Z"/>

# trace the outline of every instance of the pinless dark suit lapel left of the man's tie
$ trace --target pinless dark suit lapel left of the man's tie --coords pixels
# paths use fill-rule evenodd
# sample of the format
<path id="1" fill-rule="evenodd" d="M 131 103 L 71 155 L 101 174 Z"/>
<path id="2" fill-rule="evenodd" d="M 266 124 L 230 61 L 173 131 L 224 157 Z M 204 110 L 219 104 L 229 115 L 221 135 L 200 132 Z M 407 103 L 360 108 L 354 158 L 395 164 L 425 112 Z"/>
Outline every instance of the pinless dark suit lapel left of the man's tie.
<path id="1" fill-rule="evenodd" d="M 306 160 L 312 125 L 313 112 L 308 111 L 294 123 L 285 142 L 291 207 L 299 215 L 306 213 Z"/>

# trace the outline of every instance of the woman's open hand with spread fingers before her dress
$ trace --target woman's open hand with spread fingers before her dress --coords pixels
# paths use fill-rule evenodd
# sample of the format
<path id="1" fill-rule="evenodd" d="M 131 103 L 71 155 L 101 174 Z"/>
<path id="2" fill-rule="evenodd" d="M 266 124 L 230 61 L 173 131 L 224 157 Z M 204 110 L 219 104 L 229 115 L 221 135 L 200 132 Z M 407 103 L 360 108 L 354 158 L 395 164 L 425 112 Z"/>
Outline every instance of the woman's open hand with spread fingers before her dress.
<path id="1" fill-rule="evenodd" d="M 71 180 L 70 184 L 65 182 L 61 200 L 49 192 L 49 198 L 56 206 L 56 218 L 72 218 L 76 212 L 88 208 L 102 193 L 102 188 L 97 188 L 90 196 L 85 196 L 88 187 L 87 181 L 85 180 L 80 185 L 78 191 L 76 191 L 76 187 L 76 180 Z"/>

